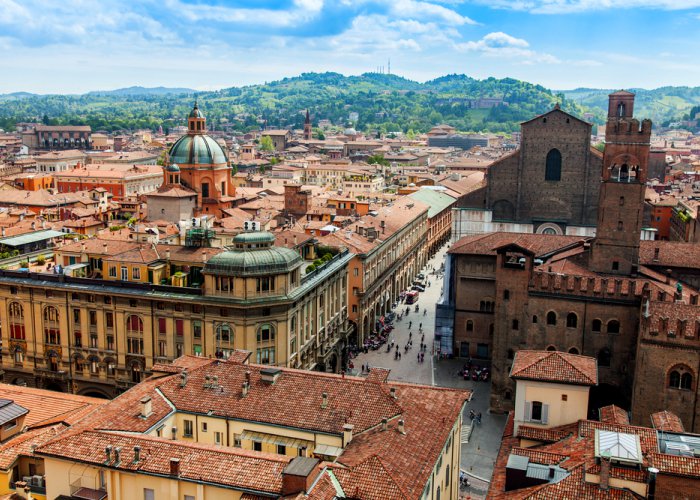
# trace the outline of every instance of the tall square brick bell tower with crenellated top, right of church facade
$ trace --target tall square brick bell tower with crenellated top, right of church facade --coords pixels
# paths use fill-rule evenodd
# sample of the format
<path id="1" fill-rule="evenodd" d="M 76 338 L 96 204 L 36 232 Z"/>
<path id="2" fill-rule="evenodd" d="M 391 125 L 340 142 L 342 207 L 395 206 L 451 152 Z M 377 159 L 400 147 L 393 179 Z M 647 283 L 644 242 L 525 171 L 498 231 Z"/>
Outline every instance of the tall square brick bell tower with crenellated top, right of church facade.
<path id="1" fill-rule="evenodd" d="M 598 229 L 590 261 L 591 269 L 603 274 L 635 274 L 639 265 L 651 120 L 643 120 L 640 127 L 633 111 L 633 93 L 609 95 Z"/>

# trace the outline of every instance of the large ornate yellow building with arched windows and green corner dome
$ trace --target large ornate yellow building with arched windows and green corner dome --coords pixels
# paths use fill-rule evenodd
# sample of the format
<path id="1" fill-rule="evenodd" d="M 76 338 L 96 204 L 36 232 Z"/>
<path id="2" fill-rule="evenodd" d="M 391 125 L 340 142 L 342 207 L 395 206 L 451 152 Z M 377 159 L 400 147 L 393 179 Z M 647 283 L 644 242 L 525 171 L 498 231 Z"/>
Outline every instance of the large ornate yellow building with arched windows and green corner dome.
<path id="1" fill-rule="evenodd" d="M 0 270 L 3 380 L 113 396 L 155 363 L 234 349 L 262 364 L 340 371 L 351 255 L 307 272 L 274 241 L 241 233 L 214 251 L 88 240 L 57 258 L 93 278 Z"/>

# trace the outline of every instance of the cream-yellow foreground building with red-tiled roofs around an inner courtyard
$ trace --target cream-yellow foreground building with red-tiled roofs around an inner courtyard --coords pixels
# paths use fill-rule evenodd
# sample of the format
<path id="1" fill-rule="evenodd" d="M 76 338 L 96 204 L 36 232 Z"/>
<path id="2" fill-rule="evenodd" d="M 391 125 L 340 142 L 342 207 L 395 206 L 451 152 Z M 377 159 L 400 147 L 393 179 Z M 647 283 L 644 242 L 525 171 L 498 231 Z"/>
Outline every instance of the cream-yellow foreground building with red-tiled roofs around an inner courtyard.
<path id="1" fill-rule="evenodd" d="M 457 499 L 470 391 L 185 356 L 40 446 L 47 497 Z"/>

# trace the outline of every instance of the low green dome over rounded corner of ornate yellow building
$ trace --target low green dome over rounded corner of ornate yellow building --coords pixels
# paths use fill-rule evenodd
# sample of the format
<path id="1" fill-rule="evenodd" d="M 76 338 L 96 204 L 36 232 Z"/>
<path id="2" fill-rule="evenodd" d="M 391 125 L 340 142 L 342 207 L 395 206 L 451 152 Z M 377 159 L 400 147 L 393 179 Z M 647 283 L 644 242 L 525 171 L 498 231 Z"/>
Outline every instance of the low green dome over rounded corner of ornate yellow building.
<path id="1" fill-rule="evenodd" d="M 248 248 L 215 255 L 207 261 L 204 272 L 219 276 L 264 276 L 288 273 L 301 263 L 301 256 L 291 248 Z"/>

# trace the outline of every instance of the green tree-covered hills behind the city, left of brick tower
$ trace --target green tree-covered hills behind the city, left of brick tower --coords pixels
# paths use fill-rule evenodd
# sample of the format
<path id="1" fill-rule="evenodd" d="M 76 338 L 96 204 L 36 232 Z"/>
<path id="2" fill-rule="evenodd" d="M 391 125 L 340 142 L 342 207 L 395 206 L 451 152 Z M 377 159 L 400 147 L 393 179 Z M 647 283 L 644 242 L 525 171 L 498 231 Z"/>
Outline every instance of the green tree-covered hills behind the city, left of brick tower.
<path id="1" fill-rule="evenodd" d="M 438 123 L 461 131 L 512 132 L 519 123 L 544 113 L 556 102 L 580 115 L 583 109 L 563 95 L 540 85 L 512 78 L 476 80 L 448 75 L 418 83 L 396 75 L 368 73 L 304 73 L 263 85 L 233 87 L 197 94 L 0 96 L 0 127 L 11 129 L 19 121 L 50 124 L 88 124 L 93 130 L 136 128 L 168 129 L 185 123 L 197 98 L 210 126 L 232 123 L 238 130 L 269 126 L 303 126 L 310 109 L 315 123 L 331 120 L 344 126 L 351 112 L 358 130 L 425 132 Z M 477 109 L 470 100 L 501 99 L 506 104 Z"/>

